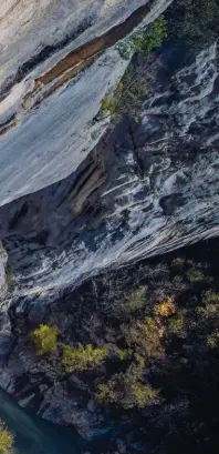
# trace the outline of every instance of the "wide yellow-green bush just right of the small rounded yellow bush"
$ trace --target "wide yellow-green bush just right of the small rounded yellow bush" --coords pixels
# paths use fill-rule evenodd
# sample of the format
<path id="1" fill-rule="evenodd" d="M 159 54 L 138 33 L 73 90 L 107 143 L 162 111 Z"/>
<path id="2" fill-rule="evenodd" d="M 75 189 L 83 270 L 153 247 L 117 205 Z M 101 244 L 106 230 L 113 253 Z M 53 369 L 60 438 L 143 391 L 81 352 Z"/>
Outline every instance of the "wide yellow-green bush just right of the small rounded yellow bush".
<path id="1" fill-rule="evenodd" d="M 65 372 L 84 371 L 95 367 L 107 355 L 108 349 L 103 345 L 94 347 L 91 344 L 70 346 L 65 345 L 63 350 L 63 366 Z"/>

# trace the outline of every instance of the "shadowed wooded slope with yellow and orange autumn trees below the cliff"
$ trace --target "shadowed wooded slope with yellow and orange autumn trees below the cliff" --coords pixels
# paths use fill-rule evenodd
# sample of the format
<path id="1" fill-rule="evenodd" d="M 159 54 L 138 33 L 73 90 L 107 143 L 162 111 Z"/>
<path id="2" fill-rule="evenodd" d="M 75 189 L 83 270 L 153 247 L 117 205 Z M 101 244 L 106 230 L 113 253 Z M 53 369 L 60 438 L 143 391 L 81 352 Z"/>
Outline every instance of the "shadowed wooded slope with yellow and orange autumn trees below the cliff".
<path id="1" fill-rule="evenodd" d="M 59 342 L 52 361 L 48 355 L 55 371 L 62 363 L 62 380 L 71 389 L 75 384 L 82 403 L 92 396 L 109 417 L 128 418 L 143 446 L 149 434 L 152 453 L 175 454 L 177 445 L 179 454 L 217 454 L 219 243 L 213 241 L 211 249 L 209 241 L 86 282 L 74 293 L 75 305 L 70 299 L 66 306 L 65 345 Z M 74 345 L 66 344 L 70 339 Z"/>

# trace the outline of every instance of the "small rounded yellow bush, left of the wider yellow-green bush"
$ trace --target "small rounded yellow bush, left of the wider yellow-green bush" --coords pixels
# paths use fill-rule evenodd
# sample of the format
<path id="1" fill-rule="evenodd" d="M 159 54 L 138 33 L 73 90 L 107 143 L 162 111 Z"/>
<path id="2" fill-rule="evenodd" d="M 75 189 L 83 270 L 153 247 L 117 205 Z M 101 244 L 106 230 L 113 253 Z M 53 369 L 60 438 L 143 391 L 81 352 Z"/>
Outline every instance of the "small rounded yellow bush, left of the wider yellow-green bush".
<path id="1" fill-rule="evenodd" d="M 32 331 L 31 340 L 35 344 L 36 354 L 43 355 L 58 350 L 58 334 L 59 330 L 56 326 L 49 326 L 43 323 Z"/>

